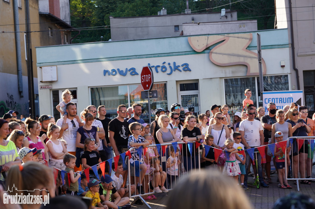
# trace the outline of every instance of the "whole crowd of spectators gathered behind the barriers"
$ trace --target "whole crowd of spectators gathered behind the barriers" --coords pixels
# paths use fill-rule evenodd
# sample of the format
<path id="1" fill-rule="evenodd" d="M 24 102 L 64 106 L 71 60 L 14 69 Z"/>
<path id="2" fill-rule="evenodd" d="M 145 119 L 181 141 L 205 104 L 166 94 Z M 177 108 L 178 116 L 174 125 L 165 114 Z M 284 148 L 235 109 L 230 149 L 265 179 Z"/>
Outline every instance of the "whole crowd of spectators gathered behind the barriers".
<path id="1" fill-rule="evenodd" d="M 265 115 L 265 108 L 253 104 L 249 89 L 245 96 L 244 111 L 233 116 L 227 105 L 212 105 L 196 117 L 175 103 L 170 111 L 157 108 L 155 120 L 148 124 L 141 119 L 140 104 L 129 108 L 119 105 L 117 117 L 112 120 L 106 117 L 104 105 L 89 105 L 77 115 L 71 92 L 65 90 L 63 101 L 56 106 L 62 114 L 57 121 L 51 115 L 41 115 L 38 121 L 21 115 L 18 120 L 19 113 L 14 110 L 0 119 L 0 184 L 7 188 L 14 183 L 23 190 L 44 187 L 53 196 L 90 197 L 92 208 L 116 209 L 131 207 L 130 194 L 143 194 L 145 200 L 153 200 L 154 192 L 167 193 L 180 175 L 197 169 L 199 162 L 202 168 L 231 176 L 244 190 L 248 189 L 248 178 L 257 175 L 260 185 L 269 187 L 271 160 L 281 189 L 292 188 L 286 176 L 297 178 L 300 173 L 301 178 L 311 178 L 313 145 L 293 139 L 281 146 L 288 137 L 314 136 L 314 118 L 307 118 L 307 107 L 297 108 L 292 103 L 277 110 L 274 103 L 269 103 Z M 165 143 L 172 145 L 163 151 L 160 148 Z M 274 143 L 272 152 L 266 146 L 265 153 L 257 153 L 258 174 L 256 167 L 251 172 L 251 157 L 244 151 L 255 148 L 258 152 L 257 147 Z M 128 150 L 130 165 L 123 158 Z M 217 158 L 218 150 L 221 152 Z M 119 162 L 118 158 L 110 160 L 113 156 L 119 156 Z M 105 161 L 102 168 L 100 163 Z M 285 173 L 285 167 L 291 172 Z M 57 178 L 52 168 L 58 170 Z M 31 169 L 38 170 L 38 181 L 34 175 L 28 179 Z M 64 181 L 62 172 L 67 173 Z M 301 183 L 308 185 L 311 181 Z M 140 199 L 135 203 L 143 204 Z"/>

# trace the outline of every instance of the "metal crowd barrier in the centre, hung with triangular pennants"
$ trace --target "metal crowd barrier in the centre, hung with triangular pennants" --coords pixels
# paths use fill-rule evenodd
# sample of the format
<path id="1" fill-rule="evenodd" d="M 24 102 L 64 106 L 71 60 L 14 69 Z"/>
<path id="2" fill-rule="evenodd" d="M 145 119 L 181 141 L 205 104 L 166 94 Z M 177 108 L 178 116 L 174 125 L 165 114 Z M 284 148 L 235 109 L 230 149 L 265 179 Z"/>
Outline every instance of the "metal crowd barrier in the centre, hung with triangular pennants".
<path id="1" fill-rule="evenodd" d="M 190 142 L 189 142 L 190 143 Z M 192 142 L 192 143 L 195 143 L 195 142 Z M 174 143 L 173 143 L 174 144 Z M 167 173 L 167 168 L 166 168 L 166 162 L 167 162 L 167 159 L 168 159 L 168 157 L 171 155 L 170 154 L 170 149 L 169 149 L 169 147 L 170 146 L 173 146 L 173 144 L 172 143 L 164 143 L 164 144 L 161 144 L 161 148 L 160 148 L 160 151 L 159 151 L 159 155 L 160 155 L 160 157 L 159 157 L 159 159 L 160 159 L 160 163 L 162 164 L 162 171 L 165 171 L 166 173 Z M 183 154 L 181 153 L 181 158 L 180 158 L 180 155 L 178 156 L 178 159 L 180 159 L 180 164 L 178 165 L 178 176 L 175 178 L 175 180 L 174 180 L 174 182 L 169 182 L 169 180 L 168 180 L 168 178 L 167 178 L 167 176 L 166 176 L 166 180 L 165 180 L 165 188 L 167 189 L 167 190 L 172 190 L 173 189 L 173 186 L 174 185 L 176 185 L 176 182 L 178 182 L 178 181 L 180 181 L 180 178 L 182 178 L 183 177 L 183 175 L 184 174 L 180 174 L 180 166 L 182 166 L 183 165 L 183 162 L 184 162 L 184 157 L 186 157 L 186 162 L 188 161 L 188 157 L 187 157 L 187 153 L 189 152 L 189 148 L 188 148 L 188 145 L 185 143 L 185 142 L 177 142 L 177 150 L 178 150 L 178 148 L 179 148 L 179 145 L 180 144 L 182 144 L 182 146 L 187 146 L 187 148 L 186 148 L 186 156 L 183 156 Z M 164 155 L 162 155 L 163 154 L 163 146 L 166 146 L 167 145 L 167 148 L 165 149 L 165 153 L 164 153 Z M 202 146 L 202 145 L 201 145 Z M 149 147 L 157 147 L 157 145 L 156 144 L 152 144 L 152 145 L 149 145 L 149 146 L 147 146 L 148 148 Z M 193 146 L 192 146 L 193 147 Z M 136 149 L 136 147 L 132 147 L 132 148 L 130 148 L 129 149 L 129 151 L 131 152 L 132 150 L 134 150 L 134 149 Z M 157 150 L 158 151 L 158 150 Z M 183 149 L 181 149 L 181 151 L 183 151 Z M 197 164 L 195 164 L 195 168 L 193 169 L 193 163 L 192 163 L 192 155 L 190 155 L 190 162 L 191 162 L 191 170 L 190 171 L 187 171 L 187 173 L 188 172 L 191 172 L 192 170 L 194 170 L 195 172 L 197 172 L 197 169 L 198 169 L 198 171 L 200 171 L 200 158 L 201 158 L 201 156 L 200 156 L 200 146 L 197 148 L 197 149 L 193 149 L 192 148 L 192 153 L 193 153 L 193 155 L 194 156 L 196 156 L 196 157 L 198 157 L 198 161 L 197 161 Z M 137 150 L 135 150 L 135 152 L 137 152 Z M 143 158 L 144 158 L 144 149 L 142 149 L 142 156 L 143 156 Z M 134 153 L 131 153 L 131 155 L 132 155 L 132 157 L 134 158 Z M 162 156 L 165 156 L 165 157 L 162 157 Z M 138 194 L 138 195 L 136 195 L 136 190 L 137 190 L 137 184 L 138 184 L 138 182 L 136 182 L 136 180 L 135 180 L 135 176 L 134 177 L 132 177 L 131 176 L 131 172 L 133 171 L 133 174 L 135 174 L 135 167 L 133 167 L 133 166 L 131 166 L 130 165 L 130 159 L 129 159 L 129 157 L 126 155 L 126 157 L 128 158 L 127 160 L 126 160 L 126 162 L 127 162 L 127 166 L 128 166 L 128 187 L 129 187 L 129 191 L 131 191 L 131 181 L 130 180 L 132 180 L 132 178 L 134 178 L 134 184 L 135 184 L 135 194 L 134 195 L 132 195 L 130 192 L 129 192 L 129 198 L 134 198 L 134 201 L 132 201 L 131 202 L 131 205 L 132 204 L 134 204 L 135 203 L 135 201 L 137 201 L 139 198 L 146 204 L 146 206 L 148 207 L 148 208 L 151 208 L 149 205 L 148 205 L 148 203 L 143 199 L 143 196 L 147 196 L 147 195 L 152 195 L 152 194 L 155 194 L 156 192 L 154 191 L 154 187 L 157 187 L 158 185 L 154 185 L 154 176 L 153 176 L 153 178 L 152 178 L 152 185 L 153 185 L 153 191 L 152 192 L 150 192 L 150 179 L 149 179 L 149 182 L 148 182 L 148 185 L 146 185 L 145 184 L 145 179 L 143 180 L 143 182 L 142 182 L 142 186 L 143 186 L 143 188 L 144 188 L 144 190 L 145 190 L 145 193 L 144 194 L 141 194 L 141 187 L 140 187 L 140 193 Z M 156 158 L 156 157 L 154 157 L 154 158 Z M 154 163 L 154 161 L 153 161 L 153 163 Z M 149 163 L 150 164 L 150 163 Z M 187 163 L 188 164 L 188 163 Z M 187 166 L 186 166 L 187 167 Z M 133 169 L 133 170 L 131 170 L 131 169 Z M 140 168 L 139 168 L 139 172 L 140 172 Z M 149 171 L 150 172 L 150 171 Z M 149 175 L 150 175 L 150 173 L 149 173 Z M 168 175 L 168 174 L 167 174 Z M 186 175 L 186 174 L 185 174 Z M 149 176 L 148 176 L 148 178 L 149 178 Z M 163 185 L 161 185 L 161 186 L 163 186 Z M 146 191 L 148 191 L 148 192 L 146 192 Z"/>

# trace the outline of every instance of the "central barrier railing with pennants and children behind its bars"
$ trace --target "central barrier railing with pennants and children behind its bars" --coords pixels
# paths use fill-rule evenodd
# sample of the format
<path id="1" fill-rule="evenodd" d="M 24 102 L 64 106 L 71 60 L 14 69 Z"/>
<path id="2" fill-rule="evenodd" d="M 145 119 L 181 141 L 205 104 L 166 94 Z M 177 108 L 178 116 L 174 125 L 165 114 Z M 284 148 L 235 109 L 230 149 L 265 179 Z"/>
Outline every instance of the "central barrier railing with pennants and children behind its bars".
<path id="1" fill-rule="evenodd" d="M 199 144 L 200 145 L 200 144 Z M 171 156 L 171 151 L 170 151 L 170 146 L 172 146 L 174 148 L 174 152 L 176 153 L 176 151 L 181 151 L 181 155 L 178 155 L 178 160 L 180 160 L 180 163 L 175 162 L 174 160 L 172 160 L 173 162 L 170 162 L 170 168 L 167 168 L 167 160 L 169 158 L 169 156 Z M 185 153 L 183 152 L 182 147 L 186 146 L 186 151 Z M 154 149 L 153 149 L 154 148 Z M 156 152 L 158 153 L 159 156 L 149 156 L 152 155 L 152 150 L 156 150 Z M 148 203 L 145 201 L 145 199 L 143 198 L 143 196 L 148 196 L 148 195 L 152 195 L 155 194 L 156 192 L 154 191 L 154 188 L 158 187 L 159 185 L 156 185 L 155 182 L 155 176 L 153 174 L 152 179 L 150 180 L 150 172 L 159 172 L 160 174 L 157 174 L 157 176 L 160 176 L 160 180 L 159 182 L 162 181 L 161 183 L 161 187 L 165 186 L 166 190 L 172 190 L 173 186 L 176 185 L 177 181 L 180 181 L 180 178 L 182 178 L 182 176 L 184 175 L 184 173 L 180 173 L 180 166 L 184 166 L 184 168 L 186 169 L 187 173 L 188 171 L 194 169 L 195 171 L 198 169 L 198 171 L 200 171 L 200 146 L 198 146 L 198 148 L 195 147 L 195 142 L 188 142 L 187 144 L 185 142 L 173 142 L 173 143 L 164 143 L 164 144 L 153 144 L 153 145 L 149 145 L 146 146 L 146 148 L 143 147 L 132 147 L 129 149 L 130 153 L 131 153 L 131 158 L 133 159 L 140 159 L 141 162 L 141 158 L 143 158 L 142 162 L 146 162 L 148 159 L 145 159 L 146 157 L 144 157 L 147 153 L 147 156 L 152 157 L 153 160 L 150 160 L 151 162 L 153 162 L 153 166 L 155 164 L 155 159 L 160 159 L 161 165 L 159 165 L 159 170 L 160 171 L 150 171 L 149 168 L 149 172 L 147 173 L 148 176 L 148 182 L 144 183 L 146 181 L 145 178 L 143 178 L 141 176 L 141 169 L 140 166 L 137 168 L 132 166 L 130 164 L 130 155 L 128 156 L 128 160 L 127 160 L 127 166 L 128 166 L 128 188 L 129 191 L 131 191 L 131 185 L 133 185 L 133 183 L 135 184 L 135 195 L 132 195 L 129 192 L 129 198 L 134 198 L 134 201 L 131 202 L 131 205 L 135 203 L 135 201 L 137 201 L 139 198 L 146 204 L 146 206 L 148 208 L 151 208 Z M 187 156 L 189 153 L 190 156 Z M 171 159 L 171 158 L 170 158 Z M 133 160 L 132 160 L 133 161 Z M 146 163 L 147 166 L 151 167 L 151 163 Z M 174 163 L 174 165 L 172 165 Z M 176 163 L 177 163 L 177 169 L 176 169 Z M 134 163 L 135 165 L 136 163 Z M 160 167 L 161 166 L 161 167 Z M 155 168 L 154 168 L 155 169 Z M 153 170 L 153 169 L 151 169 Z M 140 180 L 138 180 L 138 178 L 136 177 L 135 174 L 139 174 L 140 173 Z M 143 171 L 142 171 L 143 174 Z M 165 175 L 166 174 L 166 175 Z M 170 175 L 170 174 L 177 174 L 177 175 Z M 151 173 L 152 175 L 152 173 Z M 164 177 L 166 177 L 164 179 Z M 144 179 L 144 180 L 142 180 Z M 163 181 L 164 185 L 163 184 Z M 142 184 L 143 187 L 140 186 L 140 193 L 137 194 L 137 184 L 140 183 Z M 150 188 L 151 187 L 151 188 Z M 153 188 L 152 188 L 153 187 Z M 144 191 L 143 191 L 143 189 Z M 142 193 L 142 194 L 141 194 Z"/>

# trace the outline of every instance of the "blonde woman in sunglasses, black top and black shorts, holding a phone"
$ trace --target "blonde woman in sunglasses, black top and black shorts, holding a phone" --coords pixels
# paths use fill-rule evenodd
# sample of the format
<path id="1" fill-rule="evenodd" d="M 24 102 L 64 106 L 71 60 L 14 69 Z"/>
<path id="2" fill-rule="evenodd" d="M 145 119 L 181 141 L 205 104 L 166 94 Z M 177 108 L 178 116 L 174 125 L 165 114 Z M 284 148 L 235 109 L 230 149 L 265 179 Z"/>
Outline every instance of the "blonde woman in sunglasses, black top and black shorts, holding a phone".
<path id="1" fill-rule="evenodd" d="M 311 128 L 306 125 L 306 123 L 299 121 L 299 110 L 296 108 L 292 108 L 289 110 L 288 114 L 289 120 L 288 123 L 292 125 L 292 136 L 293 137 L 307 137 L 307 134 L 311 132 Z M 298 176 L 298 168 L 301 174 L 301 178 L 305 178 L 305 169 L 306 169 L 306 161 L 307 161 L 307 140 L 304 140 L 302 147 L 299 149 L 296 139 L 293 139 L 292 143 L 292 152 L 293 152 L 293 178 L 297 178 Z M 299 164 L 298 164 L 299 163 Z M 296 181 L 293 182 L 296 185 Z M 311 182 L 307 180 L 301 181 L 302 184 L 311 184 Z"/>

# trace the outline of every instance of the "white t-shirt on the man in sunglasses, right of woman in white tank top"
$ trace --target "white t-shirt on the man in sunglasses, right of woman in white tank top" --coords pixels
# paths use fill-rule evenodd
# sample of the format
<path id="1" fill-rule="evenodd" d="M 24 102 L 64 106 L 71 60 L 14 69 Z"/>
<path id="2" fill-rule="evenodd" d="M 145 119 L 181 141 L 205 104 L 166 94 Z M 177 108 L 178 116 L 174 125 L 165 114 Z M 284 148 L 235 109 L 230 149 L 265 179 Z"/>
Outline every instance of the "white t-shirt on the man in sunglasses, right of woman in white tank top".
<path id="1" fill-rule="evenodd" d="M 244 138 L 250 147 L 261 146 L 260 133 L 262 131 L 262 125 L 260 121 L 244 120 L 239 124 L 239 131 L 244 131 Z"/>

